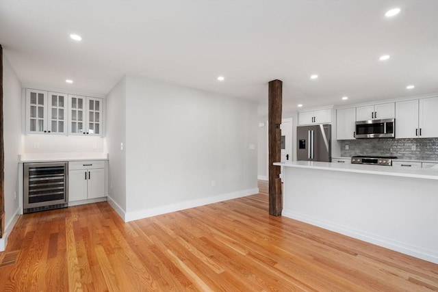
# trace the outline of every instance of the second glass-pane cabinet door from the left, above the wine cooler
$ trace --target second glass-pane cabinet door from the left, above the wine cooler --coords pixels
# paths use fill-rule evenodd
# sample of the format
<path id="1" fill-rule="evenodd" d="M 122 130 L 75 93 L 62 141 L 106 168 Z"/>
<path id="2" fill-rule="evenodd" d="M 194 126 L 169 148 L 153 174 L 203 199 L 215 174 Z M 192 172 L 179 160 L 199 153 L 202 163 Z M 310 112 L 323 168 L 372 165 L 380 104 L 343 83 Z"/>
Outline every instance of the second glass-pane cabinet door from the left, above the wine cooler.
<path id="1" fill-rule="evenodd" d="M 49 92 L 47 129 L 49 133 L 67 133 L 67 94 Z"/>

